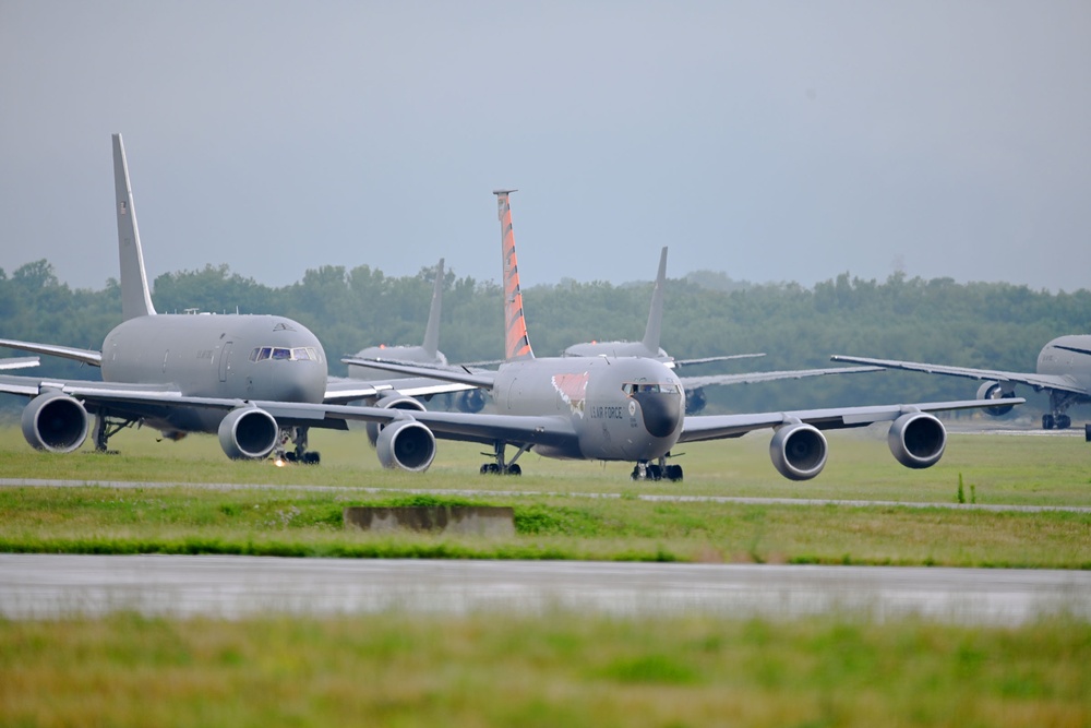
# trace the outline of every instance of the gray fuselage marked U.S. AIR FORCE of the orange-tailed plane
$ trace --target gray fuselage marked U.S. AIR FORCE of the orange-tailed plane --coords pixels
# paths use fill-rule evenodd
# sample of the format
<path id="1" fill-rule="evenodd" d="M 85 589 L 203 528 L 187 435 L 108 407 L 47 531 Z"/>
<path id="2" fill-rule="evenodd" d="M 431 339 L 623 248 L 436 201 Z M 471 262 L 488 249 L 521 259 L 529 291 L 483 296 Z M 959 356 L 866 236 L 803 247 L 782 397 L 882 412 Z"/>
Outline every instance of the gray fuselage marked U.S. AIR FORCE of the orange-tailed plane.
<path id="1" fill-rule="evenodd" d="M 678 442 L 685 411 L 674 372 L 640 358 L 512 361 L 500 368 L 492 394 L 501 414 L 571 419 L 578 452 L 535 446 L 548 457 L 658 458 Z"/>

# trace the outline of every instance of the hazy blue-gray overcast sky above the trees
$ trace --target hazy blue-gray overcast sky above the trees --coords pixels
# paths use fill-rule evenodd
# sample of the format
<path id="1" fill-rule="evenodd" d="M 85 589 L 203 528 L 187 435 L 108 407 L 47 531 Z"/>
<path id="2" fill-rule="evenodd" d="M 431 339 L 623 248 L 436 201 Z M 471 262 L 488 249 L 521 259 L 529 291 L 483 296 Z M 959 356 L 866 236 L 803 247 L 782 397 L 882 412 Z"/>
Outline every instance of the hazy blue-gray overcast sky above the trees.
<path id="1" fill-rule="evenodd" d="M 0 267 L 1089 287 L 1091 3 L 0 0 Z"/>

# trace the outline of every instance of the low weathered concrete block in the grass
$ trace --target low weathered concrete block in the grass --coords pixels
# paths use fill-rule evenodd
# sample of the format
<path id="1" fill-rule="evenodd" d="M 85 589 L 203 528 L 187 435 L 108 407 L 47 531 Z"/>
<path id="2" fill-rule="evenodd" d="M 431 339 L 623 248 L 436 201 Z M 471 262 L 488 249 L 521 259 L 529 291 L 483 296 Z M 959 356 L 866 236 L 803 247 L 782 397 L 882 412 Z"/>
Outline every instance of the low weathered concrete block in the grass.
<path id="1" fill-rule="evenodd" d="M 344 510 L 343 518 L 346 528 L 371 533 L 515 535 L 515 512 L 507 505 L 350 505 Z"/>

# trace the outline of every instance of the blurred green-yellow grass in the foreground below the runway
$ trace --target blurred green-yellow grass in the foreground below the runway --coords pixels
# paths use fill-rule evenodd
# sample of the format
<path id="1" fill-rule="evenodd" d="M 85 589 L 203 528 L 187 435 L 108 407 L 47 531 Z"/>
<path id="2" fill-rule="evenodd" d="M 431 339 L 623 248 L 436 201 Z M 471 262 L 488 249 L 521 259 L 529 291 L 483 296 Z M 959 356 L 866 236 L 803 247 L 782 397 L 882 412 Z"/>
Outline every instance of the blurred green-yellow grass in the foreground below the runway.
<path id="1" fill-rule="evenodd" d="M 1086 726 L 1091 625 L 398 616 L 0 621 L 5 726 Z"/>

